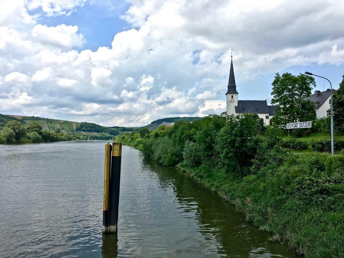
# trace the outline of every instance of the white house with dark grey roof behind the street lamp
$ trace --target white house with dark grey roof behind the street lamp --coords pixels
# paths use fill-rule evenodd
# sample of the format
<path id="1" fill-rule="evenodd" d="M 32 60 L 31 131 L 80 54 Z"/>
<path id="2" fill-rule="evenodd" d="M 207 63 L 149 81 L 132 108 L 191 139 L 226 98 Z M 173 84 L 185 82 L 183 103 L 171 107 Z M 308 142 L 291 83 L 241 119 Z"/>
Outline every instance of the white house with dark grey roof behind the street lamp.
<path id="1" fill-rule="evenodd" d="M 314 94 L 305 98 L 314 102 L 316 118 L 320 119 L 327 116 L 327 110 L 330 109 L 331 94 L 333 94 L 335 91 L 335 89 L 332 89 L 332 92 L 330 89 L 326 89 L 323 92 L 320 92 L 320 90 L 315 90 Z"/>

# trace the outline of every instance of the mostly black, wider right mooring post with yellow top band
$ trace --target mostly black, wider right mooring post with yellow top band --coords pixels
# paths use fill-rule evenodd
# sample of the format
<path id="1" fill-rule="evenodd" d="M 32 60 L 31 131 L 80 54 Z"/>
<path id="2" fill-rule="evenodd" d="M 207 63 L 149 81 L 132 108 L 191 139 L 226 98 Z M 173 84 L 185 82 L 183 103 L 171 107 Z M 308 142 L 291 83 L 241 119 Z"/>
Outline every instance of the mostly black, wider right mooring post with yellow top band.
<path id="1" fill-rule="evenodd" d="M 108 233 L 117 232 L 122 143 L 112 143 Z"/>

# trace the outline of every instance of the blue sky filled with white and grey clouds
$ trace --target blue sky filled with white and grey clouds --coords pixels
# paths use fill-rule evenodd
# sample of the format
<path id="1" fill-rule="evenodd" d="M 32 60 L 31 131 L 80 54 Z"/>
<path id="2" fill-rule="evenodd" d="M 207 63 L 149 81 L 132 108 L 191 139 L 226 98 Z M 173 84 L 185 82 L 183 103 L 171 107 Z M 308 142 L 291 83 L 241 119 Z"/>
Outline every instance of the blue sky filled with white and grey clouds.
<path id="1" fill-rule="evenodd" d="M 1 0 L 0 114 L 143 126 L 271 101 L 276 73 L 344 74 L 337 0 Z M 329 88 L 316 79 L 316 88 Z"/>

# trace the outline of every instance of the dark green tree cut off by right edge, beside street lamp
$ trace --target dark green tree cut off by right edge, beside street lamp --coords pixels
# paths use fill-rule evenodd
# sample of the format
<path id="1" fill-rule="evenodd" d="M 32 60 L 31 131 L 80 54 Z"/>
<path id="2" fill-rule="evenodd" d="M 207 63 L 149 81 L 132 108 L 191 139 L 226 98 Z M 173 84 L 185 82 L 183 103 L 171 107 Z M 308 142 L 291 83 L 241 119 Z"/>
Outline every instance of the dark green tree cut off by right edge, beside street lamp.
<path id="1" fill-rule="evenodd" d="M 330 100 L 331 101 L 331 100 Z M 333 126 L 338 132 L 344 132 L 344 75 L 339 89 L 333 94 Z"/>

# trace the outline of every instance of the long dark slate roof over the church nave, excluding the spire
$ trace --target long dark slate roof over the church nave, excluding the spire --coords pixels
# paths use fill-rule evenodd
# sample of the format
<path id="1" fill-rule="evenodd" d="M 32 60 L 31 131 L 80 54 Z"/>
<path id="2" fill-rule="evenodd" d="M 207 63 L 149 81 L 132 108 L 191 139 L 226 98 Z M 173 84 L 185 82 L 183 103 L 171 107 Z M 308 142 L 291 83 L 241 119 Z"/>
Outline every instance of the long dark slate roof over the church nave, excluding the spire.
<path id="1" fill-rule="evenodd" d="M 269 114 L 269 116 L 275 116 L 276 107 L 277 106 L 268 106 L 266 100 L 238 100 L 238 106 L 235 106 L 235 112 Z"/>

